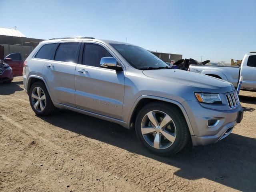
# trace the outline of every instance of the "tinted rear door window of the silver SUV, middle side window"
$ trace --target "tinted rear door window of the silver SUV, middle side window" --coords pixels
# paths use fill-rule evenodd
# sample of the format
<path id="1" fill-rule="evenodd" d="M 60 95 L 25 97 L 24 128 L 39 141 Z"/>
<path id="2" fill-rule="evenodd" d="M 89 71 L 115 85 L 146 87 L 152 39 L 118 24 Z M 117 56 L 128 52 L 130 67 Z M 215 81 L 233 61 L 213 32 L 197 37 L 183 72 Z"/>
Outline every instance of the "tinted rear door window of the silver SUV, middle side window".
<path id="1" fill-rule="evenodd" d="M 77 50 L 79 43 L 61 43 L 56 50 L 56 61 L 77 63 Z"/>

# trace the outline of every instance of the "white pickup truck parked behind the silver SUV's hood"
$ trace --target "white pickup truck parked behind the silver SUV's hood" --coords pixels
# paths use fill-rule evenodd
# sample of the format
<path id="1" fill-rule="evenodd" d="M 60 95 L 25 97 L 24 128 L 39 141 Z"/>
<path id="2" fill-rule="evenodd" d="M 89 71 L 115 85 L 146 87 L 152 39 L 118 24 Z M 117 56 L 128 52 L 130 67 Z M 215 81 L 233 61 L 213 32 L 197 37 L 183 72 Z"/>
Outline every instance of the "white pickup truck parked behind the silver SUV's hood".
<path id="1" fill-rule="evenodd" d="M 240 67 L 190 65 L 188 70 L 228 81 L 235 87 L 244 76 L 241 89 L 256 90 L 256 52 L 245 54 Z"/>

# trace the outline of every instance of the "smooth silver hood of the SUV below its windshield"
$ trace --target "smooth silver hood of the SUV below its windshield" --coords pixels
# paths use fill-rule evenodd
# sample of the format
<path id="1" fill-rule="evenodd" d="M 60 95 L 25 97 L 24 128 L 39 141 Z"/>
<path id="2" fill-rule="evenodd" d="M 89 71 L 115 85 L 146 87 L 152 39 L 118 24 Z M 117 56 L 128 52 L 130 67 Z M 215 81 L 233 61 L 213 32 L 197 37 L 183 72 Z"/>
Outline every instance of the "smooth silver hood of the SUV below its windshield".
<path id="1" fill-rule="evenodd" d="M 184 70 L 144 70 L 143 74 L 155 79 L 194 86 L 202 92 L 227 93 L 234 90 L 234 86 L 227 81 Z"/>

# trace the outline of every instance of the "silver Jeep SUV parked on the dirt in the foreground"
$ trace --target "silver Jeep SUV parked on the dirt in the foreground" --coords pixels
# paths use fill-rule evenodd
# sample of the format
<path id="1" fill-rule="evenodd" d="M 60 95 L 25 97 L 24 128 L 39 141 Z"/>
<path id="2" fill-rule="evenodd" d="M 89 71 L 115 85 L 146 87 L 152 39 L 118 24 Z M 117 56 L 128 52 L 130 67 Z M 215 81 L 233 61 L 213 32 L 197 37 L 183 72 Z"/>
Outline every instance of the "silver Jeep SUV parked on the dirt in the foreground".
<path id="1" fill-rule="evenodd" d="M 65 108 L 135 128 L 158 155 L 177 153 L 189 139 L 193 145 L 215 143 L 243 116 L 229 82 L 172 69 L 124 42 L 46 40 L 24 64 L 24 88 L 37 115 Z"/>

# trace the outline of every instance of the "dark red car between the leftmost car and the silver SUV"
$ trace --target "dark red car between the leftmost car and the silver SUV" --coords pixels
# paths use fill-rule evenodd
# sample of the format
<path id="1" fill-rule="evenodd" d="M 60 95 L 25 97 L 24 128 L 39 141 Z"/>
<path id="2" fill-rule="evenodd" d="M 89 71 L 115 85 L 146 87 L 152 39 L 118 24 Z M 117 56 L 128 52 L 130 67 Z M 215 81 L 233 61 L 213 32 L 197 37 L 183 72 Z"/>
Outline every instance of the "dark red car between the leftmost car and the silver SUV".
<path id="1" fill-rule="evenodd" d="M 22 76 L 23 62 L 20 53 L 9 54 L 4 58 L 4 62 L 12 68 L 13 76 Z"/>

